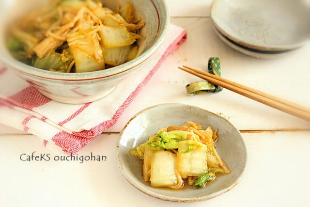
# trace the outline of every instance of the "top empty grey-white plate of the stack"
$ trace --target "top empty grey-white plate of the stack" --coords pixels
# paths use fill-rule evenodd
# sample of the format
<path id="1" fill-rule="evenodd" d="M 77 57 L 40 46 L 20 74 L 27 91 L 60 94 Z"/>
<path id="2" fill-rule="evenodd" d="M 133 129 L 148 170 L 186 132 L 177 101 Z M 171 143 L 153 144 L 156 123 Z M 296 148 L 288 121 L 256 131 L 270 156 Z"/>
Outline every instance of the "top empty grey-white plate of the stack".
<path id="1" fill-rule="evenodd" d="M 240 45 L 289 50 L 309 39 L 309 9 L 299 0 L 214 0 L 211 17 L 219 32 Z"/>

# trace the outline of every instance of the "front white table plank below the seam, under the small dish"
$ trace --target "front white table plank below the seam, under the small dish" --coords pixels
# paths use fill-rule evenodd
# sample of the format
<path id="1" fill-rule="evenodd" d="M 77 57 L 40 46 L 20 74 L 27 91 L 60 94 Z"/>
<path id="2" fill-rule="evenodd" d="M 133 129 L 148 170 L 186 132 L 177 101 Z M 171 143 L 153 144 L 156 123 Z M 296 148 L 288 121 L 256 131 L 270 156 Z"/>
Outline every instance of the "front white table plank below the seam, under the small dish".
<path id="1" fill-rule="evenodd" d="M 0 136 L 0 203 L 3 207 L 310 206 L 310 132 L 242 135 L 248 163 L 240 183 L 217 198 L 191 204 L 160 201 L 133 188 L 118 169 L 115 155 L 118 134 L 100 135 L 78 153 L 104 155 L 107 161 L 82 164 L 21 161 L 23 153 L 51 152 L 33 135 Z M 53 156 L 51 153 L 50 157 Z"/>

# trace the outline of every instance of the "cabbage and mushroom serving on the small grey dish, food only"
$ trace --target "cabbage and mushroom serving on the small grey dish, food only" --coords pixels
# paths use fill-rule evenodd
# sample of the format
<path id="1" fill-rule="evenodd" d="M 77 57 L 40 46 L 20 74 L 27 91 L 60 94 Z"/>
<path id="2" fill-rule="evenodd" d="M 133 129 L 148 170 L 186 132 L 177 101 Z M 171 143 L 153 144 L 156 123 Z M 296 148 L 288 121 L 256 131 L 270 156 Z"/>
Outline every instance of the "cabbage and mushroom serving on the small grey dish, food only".
<path id="1" fill-rule="evenodd" d="M 143 159 L 143 179 L 152 187 L 181 189 L 187 183 L 203 188 L 218 174 L 230 173 L 216 150 L 217 129 L 202 129 L 191 121 L 186 124 L 159 128 L 146 143 L 130 150 Z"/>

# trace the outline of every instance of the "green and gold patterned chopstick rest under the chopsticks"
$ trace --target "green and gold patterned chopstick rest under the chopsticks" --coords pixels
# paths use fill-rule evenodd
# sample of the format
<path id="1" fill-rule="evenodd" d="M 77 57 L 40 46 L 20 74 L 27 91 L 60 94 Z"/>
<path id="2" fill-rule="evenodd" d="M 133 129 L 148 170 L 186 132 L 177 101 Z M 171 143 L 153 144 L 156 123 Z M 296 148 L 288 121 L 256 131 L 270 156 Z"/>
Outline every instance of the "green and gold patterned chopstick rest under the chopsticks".
<path id="1" fill-rule="evenodd" d="M 208 61 L 208 72 L 222 77 L 221 62 L 217 57 L 211 57 Z M 208 81 L 198 81 L 189 83 L 186 85 L 186 91 L 188 96 L 196 96 L 204 93 L 215 93 L 222 91 L 223 88 L 218 85 L 214 85 Z"/>

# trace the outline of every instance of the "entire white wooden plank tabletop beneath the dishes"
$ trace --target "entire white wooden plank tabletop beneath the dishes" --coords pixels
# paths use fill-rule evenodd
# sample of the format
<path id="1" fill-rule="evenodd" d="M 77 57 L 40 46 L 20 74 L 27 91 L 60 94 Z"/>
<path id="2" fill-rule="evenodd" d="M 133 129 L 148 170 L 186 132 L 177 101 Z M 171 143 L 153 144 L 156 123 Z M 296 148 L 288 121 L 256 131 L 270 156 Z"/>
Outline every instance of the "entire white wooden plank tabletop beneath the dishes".
<path id="1" fill-rule="evenodd" d="M 33 135 L 0 126 L 0 207 L 172 207 L 310 206 L 309 124 L 224 90 L 186 96 L 185 85 L 199 80 L 180 71 L 188 64 L 206 68 L 221 59 L 223 76 L 267 93 L 310 106 L 310 44 L 274 60 L 248 57 L 217 38 L 210 19 L 211 0 L 167 0 L 171 22 L 186 28 L 188 39 L 169 57 L 124 112 L 119 122 L 79 155 L 107 156 L 105 162 L 21 161 L 20 155 L 50 153 Z M 151 105 L 179 102 L 222 113 L 242 132 L 248 165 L 233 190 L 209 201 L 176 204 L 133 188 L 117 166 L 118 132 L 135 113 Z"/>

